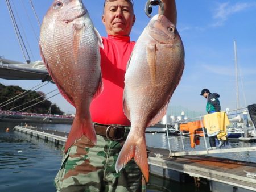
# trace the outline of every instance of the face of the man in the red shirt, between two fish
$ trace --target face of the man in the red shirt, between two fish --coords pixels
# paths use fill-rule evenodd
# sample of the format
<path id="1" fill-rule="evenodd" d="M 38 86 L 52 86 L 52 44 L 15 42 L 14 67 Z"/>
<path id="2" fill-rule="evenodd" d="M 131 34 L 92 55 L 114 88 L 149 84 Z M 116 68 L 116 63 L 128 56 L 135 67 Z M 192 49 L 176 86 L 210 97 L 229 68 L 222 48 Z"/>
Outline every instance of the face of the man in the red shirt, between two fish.
<path id="1" fill-rule="evenodd" d="M 109 35 L 129 36 L 135 22 L 133 5 L 126 0 L 107 1 L 102 22 Z"/>

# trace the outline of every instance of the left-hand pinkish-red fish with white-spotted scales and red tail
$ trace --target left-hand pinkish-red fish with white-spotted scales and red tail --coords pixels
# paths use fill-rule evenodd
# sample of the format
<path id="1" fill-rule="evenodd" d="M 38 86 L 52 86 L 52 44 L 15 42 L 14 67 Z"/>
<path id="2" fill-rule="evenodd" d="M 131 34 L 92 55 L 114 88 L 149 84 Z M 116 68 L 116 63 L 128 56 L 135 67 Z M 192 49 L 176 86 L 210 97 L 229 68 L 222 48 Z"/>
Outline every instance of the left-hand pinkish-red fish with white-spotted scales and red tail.
<path id="1" fill-rule="evenodd" d="M 55 0 L 40 31 L 41 56 L 60 93 L 76 108 L 65 152 L 85 135 L 96 143 L 90 102 L 102 89 L 102 39 L 81 0 Z"/>

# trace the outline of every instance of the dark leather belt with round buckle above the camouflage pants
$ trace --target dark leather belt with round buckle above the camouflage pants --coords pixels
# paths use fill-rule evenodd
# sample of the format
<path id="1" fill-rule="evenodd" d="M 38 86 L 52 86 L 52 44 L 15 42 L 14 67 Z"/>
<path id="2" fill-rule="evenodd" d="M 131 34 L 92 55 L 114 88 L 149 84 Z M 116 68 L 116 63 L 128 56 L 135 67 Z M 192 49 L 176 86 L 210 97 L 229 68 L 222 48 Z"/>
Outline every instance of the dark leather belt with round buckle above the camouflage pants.
<path id="1" fill-rule="evenodd" d="M 94 123 L 94 128 L 97 135 L 107 137 L 108 139 L 113 141 L 124 140 L 127 136 L 125 133 L 128 133 L 128 131 L 126 132 L 124 126 L 120 126 L 117 124 L 104 125 Z"/>

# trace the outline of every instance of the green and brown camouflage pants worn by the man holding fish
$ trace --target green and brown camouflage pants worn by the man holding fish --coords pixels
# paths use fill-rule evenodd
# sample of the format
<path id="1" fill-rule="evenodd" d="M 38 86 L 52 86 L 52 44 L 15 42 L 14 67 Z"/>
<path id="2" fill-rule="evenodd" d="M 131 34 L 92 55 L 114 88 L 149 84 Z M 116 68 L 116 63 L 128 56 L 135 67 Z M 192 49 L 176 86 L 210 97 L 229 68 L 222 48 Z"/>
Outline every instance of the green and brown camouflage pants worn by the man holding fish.
<path id="1" fill-rule="evenodd" d="M 141 171 L 134 160 L 115 172 L 122 144 L 97 135 L 97 145 L 93 145 L 82 136 L 64 154 L 55 178 L 57 191 L 141 191 Z"/>

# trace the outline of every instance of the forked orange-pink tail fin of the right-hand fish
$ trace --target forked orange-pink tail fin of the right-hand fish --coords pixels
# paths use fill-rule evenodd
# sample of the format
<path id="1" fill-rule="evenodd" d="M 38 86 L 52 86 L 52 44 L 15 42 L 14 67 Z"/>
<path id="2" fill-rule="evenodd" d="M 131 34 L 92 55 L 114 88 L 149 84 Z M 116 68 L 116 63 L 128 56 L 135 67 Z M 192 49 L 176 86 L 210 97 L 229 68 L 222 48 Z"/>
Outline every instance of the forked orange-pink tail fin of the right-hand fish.
<path id="1" fill-rule="evenodd" d="M 115 171 L 118 173 L 125 167 L 127 162 L 134 158 L 136 164 L 141 169 L 141 172 L 148 182 L 149 172 L 148 172 L 148 162 L 147 162 L 147 150 L 145 139 L 131 138 L 127 137 L 125 144 L 123 145 L 121 151 L 119 152 L 117 162 L 115 163 Z"/>

